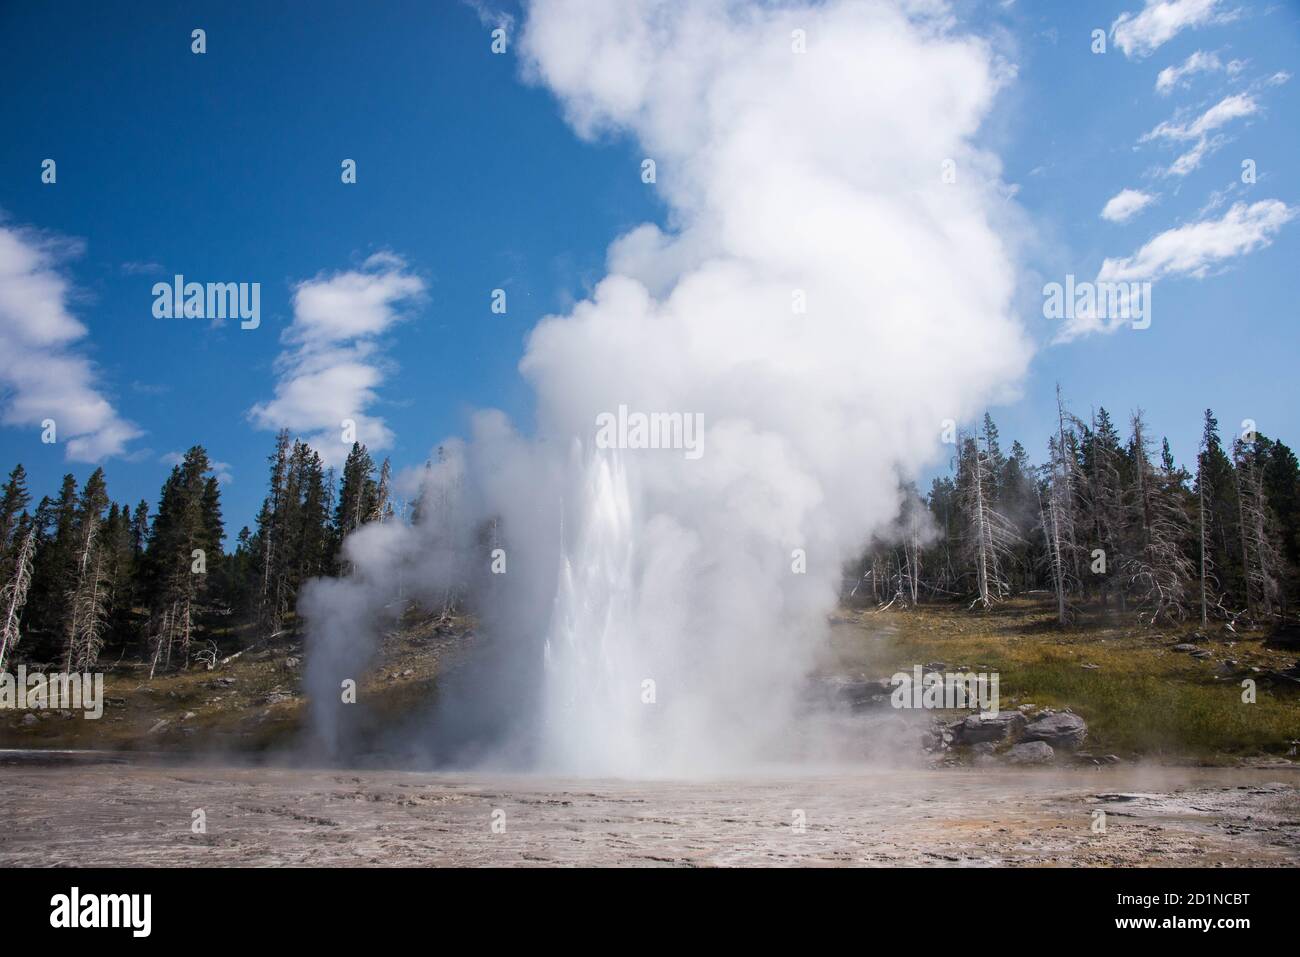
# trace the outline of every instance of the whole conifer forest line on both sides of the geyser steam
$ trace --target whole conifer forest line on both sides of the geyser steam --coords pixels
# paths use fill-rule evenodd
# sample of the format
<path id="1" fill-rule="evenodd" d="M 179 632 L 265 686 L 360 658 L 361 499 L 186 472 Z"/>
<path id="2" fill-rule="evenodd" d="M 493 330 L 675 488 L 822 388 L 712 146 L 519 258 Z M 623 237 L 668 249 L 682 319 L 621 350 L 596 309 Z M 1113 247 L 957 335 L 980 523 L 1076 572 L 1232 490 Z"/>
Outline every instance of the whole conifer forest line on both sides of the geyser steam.
<path id="1" fill-rule="evenodd" d="M 1121 434 L 1057 397 L 1046 462 L 997 426 L 956 433 L 953 473 L 922 497 L 904 485 L 890 533 L 853 568 L 849 593 L 876 603 L 989 607 L 1046 592 L 1067 624 L 1093 607 L 1145 623 L 1279 620 L 1300 597 L 1300 467 L 1258 432 L 1225 438 L 1205 412 L 1192 468 L 1135 412 Z M 72 475 L 31 507 L 21 464 L 0 489 L 0 668 L 21 655 L 66 671 L 139 654 L 150 674 L 216 655 L 242 633 L 292 627 L 299 588 L 347 575 L 344 538 L 398 510 L 387 460 L 354 443 L 342 475 L 281 432 L 254 528 L 226 551 L 221 486 L 202 446 L 173 467 L 151 511 L 114 502 L 103 468 Z M 437 502 L 429 503 L 437 508 Z M 448 596 L 448 602 L 454 601 Z M 446 614 L 446 609 L 443 609 Z"/>

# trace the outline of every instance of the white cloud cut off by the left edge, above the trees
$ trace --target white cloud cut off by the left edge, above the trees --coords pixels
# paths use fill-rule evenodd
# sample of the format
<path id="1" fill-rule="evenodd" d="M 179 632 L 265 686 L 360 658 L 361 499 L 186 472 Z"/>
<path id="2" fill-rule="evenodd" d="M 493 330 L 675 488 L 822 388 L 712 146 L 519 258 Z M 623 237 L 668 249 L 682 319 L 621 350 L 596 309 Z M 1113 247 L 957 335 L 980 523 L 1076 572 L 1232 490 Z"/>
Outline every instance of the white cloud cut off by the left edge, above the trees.
<path id="1" fill-rule="evenodd" d="M 0 387 L 6 425 L 40 428 L 53 419 L 73 462 L 121 455 L 142 434 L 104 398 L 94 364 L 74 351 L 87 329 L 69 311 L 60 274 L 74 243 L 0 226 Z"/>

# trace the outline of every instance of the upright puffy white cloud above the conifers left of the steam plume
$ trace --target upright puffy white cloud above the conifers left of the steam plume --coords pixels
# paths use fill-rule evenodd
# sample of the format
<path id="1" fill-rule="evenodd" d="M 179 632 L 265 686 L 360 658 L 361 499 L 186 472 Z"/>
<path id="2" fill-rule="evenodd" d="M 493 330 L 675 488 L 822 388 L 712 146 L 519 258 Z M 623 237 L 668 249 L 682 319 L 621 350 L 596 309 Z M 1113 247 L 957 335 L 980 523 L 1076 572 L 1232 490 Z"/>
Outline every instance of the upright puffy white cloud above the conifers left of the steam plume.
<path id="1" fill-rule="evenodd" d="M 294 320 L 285 330 L 287 348 L 276 360 L 274 398 L 250 410 L 255 425 L 286 428 L 316 447 L 328 464 L 339 464 L 348 442 L 342 423 L 356 424 L 356 441 L 387 449 L 393 432 L 369 413 L 378 400 L 389 363 L 382 337 L 424 293 L 424 281 L 389 252 L 360 269 L 317 276 L 294 287 Z"/>

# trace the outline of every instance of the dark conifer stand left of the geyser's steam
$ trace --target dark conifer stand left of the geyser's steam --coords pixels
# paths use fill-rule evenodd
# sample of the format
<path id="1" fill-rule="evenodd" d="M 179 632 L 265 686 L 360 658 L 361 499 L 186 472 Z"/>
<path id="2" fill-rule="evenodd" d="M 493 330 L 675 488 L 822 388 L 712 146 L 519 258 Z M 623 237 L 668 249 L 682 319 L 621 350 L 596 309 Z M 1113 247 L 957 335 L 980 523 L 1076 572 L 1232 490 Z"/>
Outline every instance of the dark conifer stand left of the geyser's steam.
<path id="1" fill-rule="evenodd" d="M 354 443 L 342 476 L 289 432 L 276 437 L 255 528 L 225 551 L 221 486 L 190 449 L 150 503 L 112 501 L 103 468 L 78 489 L 65 475 L 31 507 L 22 464 L 0 489 L 0 668 L 25 661 L 65 671 L 138 653 L 150 675 L 214 655 L 235 632 L 274 638 L 298 589 L 347 572 L 343 540 L 394 516 L 390 465 Z"/>

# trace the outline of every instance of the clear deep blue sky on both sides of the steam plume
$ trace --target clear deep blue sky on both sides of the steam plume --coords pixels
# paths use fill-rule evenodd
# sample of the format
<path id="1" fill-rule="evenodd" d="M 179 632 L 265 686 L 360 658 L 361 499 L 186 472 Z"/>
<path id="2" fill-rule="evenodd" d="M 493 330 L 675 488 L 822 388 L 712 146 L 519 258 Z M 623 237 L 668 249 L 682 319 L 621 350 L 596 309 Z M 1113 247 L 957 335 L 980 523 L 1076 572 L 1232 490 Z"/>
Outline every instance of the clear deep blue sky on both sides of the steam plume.
<path id="1" fill-rule="evenodd" d="M 961 12 L 1017 72 L 980 139 L 1023 211 L 1018 295 L 1040 348 L 1022 397 L 992 412 L 1005 443 L 1020 438 L 1035 460 L 1057 381 L 1078 413 L 1143 407 L 1184 462 L 1206 406 L 1226 429 L 1251 417 L 1300 442 L 1300 90 L 1279 77 L 1300 64 L 1300 8 L 1182 4 L 1187 25 L 1152 48 L 1158 30 L 1121 20 L 1143 0 Z M 195 27 L 207 31 L 202 56 Z M 1105 53 L 1089 49 L 1093 29 L 1108 31 Z M 277 356 L 292 351 L 282 335 L 295 289 L 339 273 L 387 268 L 421 287 L 365 341 L 382 373 L 368 413 L 393 434 L 381 455 L 415 465 L 474 408 L 528 421 L 516 371 L 528 330 L 589 293 L 616 235 L 671 224 L 640 179 L 640 148 L 578 139 L 555 99 L 521 79 L 514 51 L 491 52 L 490 30 L 456 3 L 0 8 L 0 226 L 46 250 L 86 328 L 62 348 L 92 363 L 94 389 L 142 433 L 105 463 L 116 499 L 152 503 L 166 456 L 202 443 L 225 464 L 230 536 L 251 523 L 273 434 L 250 412 L 273 398 Z M 1161 70 L 1197 52 L 1206 69 L 1157 90 Z M 1225 100 L 1249 103 L 1202 133 L 1197 121 Z M 1169 174 L 1202 138 L 1199 165 Z M 47 157 L 55 185 L 40 179 Z M 341 182 L 343 159 L 358 163 L 355 185 Z M 1127 221 L 1101 218 L 1124 189 L 1154 199 Z M 1283 212 L 1245 224 L 1254 242 L 1187 234 L 1182 259 L 1162 260 L 1164 246 L 1139 255 L 1266 200 Z M 1187 247 L 1202 241 L 1219 252 L 1196 260 Z M 402 265 L 374 267 L 376 254 Z M 1053 345 L 1061 326 L 1041 315 L 1043 283 L 1095 278 L 1106 259 L 1160 270 L 1150 328 Z M 151 289 L 177 272 L 260 282 L 260 328 L 155 319 Z M 490 311 L 497 287 L 504 316 Z M 43 445 L 39 425 L 0 426 L 0 464 L 22 462 L 38 497 L 65 471 L 94 468 L 66 451 Z"/>

